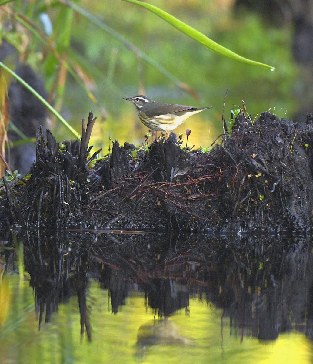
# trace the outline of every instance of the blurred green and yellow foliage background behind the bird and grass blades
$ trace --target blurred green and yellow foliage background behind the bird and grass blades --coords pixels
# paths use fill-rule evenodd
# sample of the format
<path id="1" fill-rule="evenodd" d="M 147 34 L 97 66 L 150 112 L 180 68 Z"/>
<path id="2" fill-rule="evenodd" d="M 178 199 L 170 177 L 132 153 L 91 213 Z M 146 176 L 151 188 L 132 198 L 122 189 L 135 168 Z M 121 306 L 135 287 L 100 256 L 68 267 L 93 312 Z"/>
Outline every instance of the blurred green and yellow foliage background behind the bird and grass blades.
<path id="1" fill-rule="evenodd" d="M 108 116 L 105 122 L 99 118 L 95 125 L 96 146 L 106 144 L 109 135 L 121 142 L 144 141 L 147 128 L 139 122 L 135 107 L 121 99 L 123 96 L 144 93 L 163 102 L 213 106 L 210 112 L 194 116 L 176 129 L 183 133 L 186 128 L 192 129 L 189 143 L 196 146 L 210 145 L 222 133 L 221 114 L 228 87 L 226 120 L 230 119 L 230 109 L 240 105 L 241 100 L 252 115 L 275 110 L 278 116 L 291 118 L 297 110 L 293 89 L 299 72 L 290 55 L 291 28 L 273 28 L 249 13 L 236 16 L 233 0 L 149 0 L 149 3 L 246 58 L 273 64 L 276 71 L 214 54 L 136 5 L 119 0 L 75 3 L 119 32 L 200 96 L 194 99 L 119 40 L 61 1 L 16 0 L 7 4 L 14 13 L 27 15 L 41 31 L 44 23 L 40 14 L 48 14 L 53 25 L 52 35 L 47 35 L 49 46 L 12 19 L 13 26 L 3 23 L 1 34 L 11 44 L 24 44 L 24 48 L 17 47 L 21 58 L 40 72 L 55 98 L 55 107 L 77 131 L 79 120 L 86 118 L 89 111 Z M 8 21 L 8 13 L 1 11 L 1 17 Z M 71 137 L 63 127 L 53 132 L 58 139 Z"/>

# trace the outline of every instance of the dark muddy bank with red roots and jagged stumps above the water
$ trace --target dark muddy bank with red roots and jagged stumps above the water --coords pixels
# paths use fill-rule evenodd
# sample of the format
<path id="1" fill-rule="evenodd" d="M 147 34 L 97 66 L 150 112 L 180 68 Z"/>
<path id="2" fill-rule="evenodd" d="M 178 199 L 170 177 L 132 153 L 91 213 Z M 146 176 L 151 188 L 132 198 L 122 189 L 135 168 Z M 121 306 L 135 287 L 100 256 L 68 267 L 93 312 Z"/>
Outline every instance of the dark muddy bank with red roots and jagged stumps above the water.
<path id="1" fill-rule="evenodd" d="M 59 149 L 48 132 L 45 145 L 37 140 L 27 186 L 12 187 L 18 195 L 7 187 L 2 225 L 308 231 L 312 123 L 312 115 L 302 125 L 269 112 L 254 123 L 241 114 L 210 153 L 181 149 L 174 134 L 148 152 L 116 141 L 92 170 L 86 140 L 83 149 L 78 142 Z"/>

